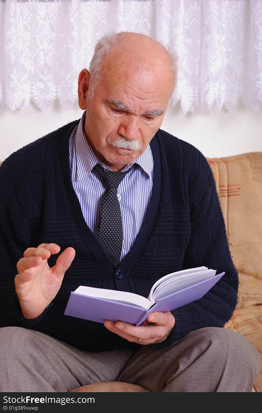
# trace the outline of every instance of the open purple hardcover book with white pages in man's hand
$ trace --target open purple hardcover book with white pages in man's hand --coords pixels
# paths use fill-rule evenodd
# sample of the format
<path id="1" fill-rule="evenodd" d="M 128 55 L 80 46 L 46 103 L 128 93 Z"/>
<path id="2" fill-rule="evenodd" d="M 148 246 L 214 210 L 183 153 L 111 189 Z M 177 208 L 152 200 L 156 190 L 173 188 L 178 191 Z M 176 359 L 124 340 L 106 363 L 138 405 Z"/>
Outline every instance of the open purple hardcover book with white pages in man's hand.
<path id="1" fill-rule="evenodd" d="M 196 267 L 164 275 L 155 282 L 147 298 L 132 292 L 80 285 L 71 292 L 64 314 L 98 323 L 121 320 L 141 325 L 150 313 L 172 311 L 203 297 L 224 275 L 215 273 L 207 267 Z"/>

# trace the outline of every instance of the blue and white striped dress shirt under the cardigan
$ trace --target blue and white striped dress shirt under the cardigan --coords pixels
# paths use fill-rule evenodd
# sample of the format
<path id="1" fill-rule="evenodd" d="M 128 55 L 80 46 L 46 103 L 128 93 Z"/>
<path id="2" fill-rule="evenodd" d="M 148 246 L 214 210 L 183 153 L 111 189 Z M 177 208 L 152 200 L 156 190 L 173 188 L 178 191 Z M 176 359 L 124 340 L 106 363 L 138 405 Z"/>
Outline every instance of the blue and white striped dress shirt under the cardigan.
<path id="1" fill-rule="evenodd" d="M 79 199 L 85 222 L 94 235 L 98 235 L 101 217 L 101 199 L 106 188 L 92 168 L 103 164 L 94 154 L 83 132 L 85 111 L 78 126 L 73 129 L 69 139 L 69 162 L 73 188 Z M 153 188 L 153 156 L 148 145 L 142 155 L 134 162 L 138 165 L 127 173 L 118 186 L 118 201 L 123 223 L 123 247 L 120 262 L 129 252 L 142 226 L 149 207 Z M 125 166 L 123 171 L 130 168 Z M 91 172 L 92 171 L 92 172 Z M 92 202 L 90 202 L 90 200 Z"/>

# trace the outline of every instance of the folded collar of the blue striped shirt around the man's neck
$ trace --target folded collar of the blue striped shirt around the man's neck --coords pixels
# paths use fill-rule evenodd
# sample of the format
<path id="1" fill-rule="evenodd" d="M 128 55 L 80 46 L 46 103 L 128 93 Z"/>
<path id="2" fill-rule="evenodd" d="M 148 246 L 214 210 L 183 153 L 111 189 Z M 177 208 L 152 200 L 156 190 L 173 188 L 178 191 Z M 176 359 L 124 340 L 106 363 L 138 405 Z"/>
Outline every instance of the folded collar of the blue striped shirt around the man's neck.
<path id="1" fill-rule="evenodd" d="M 86 110 L 83 112 L 83 115 L 80 119 L 77 131 L 76 131 L 75 153 L 76 153 L 76 178 L 78 181 L 89 176 L 93 167 L 97 163 L 101 164 L 102 166 L 106 166 L 99 160 L 97 155 L 92 150 L 92 147 L 90 146 L 89 142 L 85 138 L 85 133 L 84 133 L 85 112 Z M 146 147 L 146 150 L 142 153 L 142 155 L 140 155 L 139 158 L 137 158 L 135 162 L 133 162 L 133 164 L 139 165 L 143 169 L 143 171 L 146 172 L 147 179 L 150 177 L 152 173 L 152 169 L 153 169 L 153 155 L 152 155 L 151 148 L 149 145 Z M 123 169 L 123 171 L 129 169 L 130 166 L 133 164 L 127 165 Z"/>

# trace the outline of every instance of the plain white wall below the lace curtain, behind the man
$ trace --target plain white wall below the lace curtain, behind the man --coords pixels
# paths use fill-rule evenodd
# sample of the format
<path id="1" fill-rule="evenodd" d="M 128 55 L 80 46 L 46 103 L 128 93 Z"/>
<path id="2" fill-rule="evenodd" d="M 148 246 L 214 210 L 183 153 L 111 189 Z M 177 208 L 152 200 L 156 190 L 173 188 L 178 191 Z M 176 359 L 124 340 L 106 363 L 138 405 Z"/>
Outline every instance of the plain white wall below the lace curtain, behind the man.
<path id="1" fill-rule="evenodd" d="M 28 109 L 12 112 L 0 109 L 0 160 L 12 152 L 54 131 L 68 122 L 79 119 L 83 111 L 76 103 L 62 110 L 56 101 L 42 112 L 31 103 Z M 162 129 L 190 142 L 206 157 L 227 157 L 245 152 L 262 151 L 262 109 L 245 109 L 239 105 L 234 112 L 184 115 L 179 104 L 169 107 Z"/>

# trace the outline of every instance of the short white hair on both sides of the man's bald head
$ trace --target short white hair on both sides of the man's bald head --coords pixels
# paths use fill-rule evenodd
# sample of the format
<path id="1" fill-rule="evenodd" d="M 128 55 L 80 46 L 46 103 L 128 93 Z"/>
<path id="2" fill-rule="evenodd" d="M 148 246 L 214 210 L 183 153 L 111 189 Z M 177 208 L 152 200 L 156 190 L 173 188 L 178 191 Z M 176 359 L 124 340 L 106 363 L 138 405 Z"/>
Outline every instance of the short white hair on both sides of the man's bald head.
<path id="1" fill-rule="evenodd" d="M 104 62 L 104 59 L 106 58 L 106 56 L 108 56 L 109 53 L 112 50 L 114 50 L 116 46 L 118 46 L 123 41 L 123 37 L 121 36 L 122 33 L 126 33 L 126 32 L 120 31 L 120 32 L 106 33 L 104 36 L 102 36 L 98 40 L 97 44 L 95 45 L 94 55 L 92 57 L 92 60 L 89 66 L 90 83 L 89 83 L 88 95 L 90 96 L 91 99 L 94 97 L 95 88 L 97 87 L 98 83 L 102 79 L 102 63 Z M 172 94 L 173 94 L 175 87 L 177 85 L 177 63 L 176 62 L 179 59 L 179 56 L 177 56 L 174 51 L 170 50 L 168 45 L 165 45 L 162 42 L 159 42 L 159 43 L 165 48 L 168 54 L 169 61 L 170 61 L 170 69 L 172 71 L 172 74 L 175 80 L 174 88 L 172 91 Z"/>

